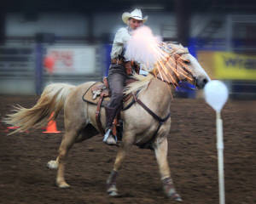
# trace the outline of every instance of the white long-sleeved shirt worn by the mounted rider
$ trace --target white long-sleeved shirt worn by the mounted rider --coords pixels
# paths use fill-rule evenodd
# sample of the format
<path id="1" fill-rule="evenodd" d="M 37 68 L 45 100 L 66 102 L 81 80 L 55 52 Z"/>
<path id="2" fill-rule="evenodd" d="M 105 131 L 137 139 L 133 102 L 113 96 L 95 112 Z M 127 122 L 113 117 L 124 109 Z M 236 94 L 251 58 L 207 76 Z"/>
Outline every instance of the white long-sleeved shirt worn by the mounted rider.
<path id="1" fill-rule="evenodd" d="M 122 53 L 126 43 L 131 38 L 131 31 L 129 30 L 129 27 L 122 27 L 116 32 L 110 54 L 111 59 L 117 58 Z"/>

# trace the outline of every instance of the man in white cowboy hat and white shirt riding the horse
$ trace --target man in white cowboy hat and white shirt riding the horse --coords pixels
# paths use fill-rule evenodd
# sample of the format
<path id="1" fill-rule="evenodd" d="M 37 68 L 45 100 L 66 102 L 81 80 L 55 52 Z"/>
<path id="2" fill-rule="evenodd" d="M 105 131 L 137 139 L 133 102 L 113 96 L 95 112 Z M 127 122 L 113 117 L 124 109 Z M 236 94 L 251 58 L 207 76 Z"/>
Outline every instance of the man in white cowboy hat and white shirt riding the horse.
<path id="1" fill-rule="evenodd" d="M 108 87 L 111 90 L 111 99 L 106 105 L 106 133 L 103 142 L 106 144 L 117 144 L 117 138 L 112 134 L 112 123 L 117 112 L 122 108 L 123 88 L 125 79 L 132 74 L 132 71 L 139 72 L 136 63 L 125 60 L 125 45 L 131 38 L 132 31 L 143 26 L 148 16 L 143 18 L 141 9 L 134 9 L 131 13 L 125 12 L 122 20 L 127 27 L 120 28 L 113 39 L 111 50 L 111 65 L 108 71 Z"/>

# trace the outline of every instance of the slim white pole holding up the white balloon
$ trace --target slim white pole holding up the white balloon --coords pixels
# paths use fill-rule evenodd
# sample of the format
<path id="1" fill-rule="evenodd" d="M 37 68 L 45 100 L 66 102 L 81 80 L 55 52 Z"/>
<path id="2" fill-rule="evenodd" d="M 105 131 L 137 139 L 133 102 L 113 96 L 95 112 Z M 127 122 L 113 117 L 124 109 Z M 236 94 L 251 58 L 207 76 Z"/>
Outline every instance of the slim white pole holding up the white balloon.
<path id="1" fill-rule="evenodd" d="M 216 125 L 217 125 L 217 149 L 218 149 L 218 190 L 219 203 L 225 203 L 224 194 L 224 142 L 223 142 L 223 123 L 220 112 L 216 111 Z"/>

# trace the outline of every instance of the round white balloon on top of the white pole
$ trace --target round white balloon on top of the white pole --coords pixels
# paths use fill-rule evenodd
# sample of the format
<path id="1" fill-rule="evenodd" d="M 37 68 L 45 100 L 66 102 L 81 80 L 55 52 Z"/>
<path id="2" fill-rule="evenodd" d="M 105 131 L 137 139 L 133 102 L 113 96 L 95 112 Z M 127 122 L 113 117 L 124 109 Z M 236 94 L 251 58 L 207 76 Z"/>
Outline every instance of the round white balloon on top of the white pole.
<path id="1" fill-rule="evenodd" d="M 224 82 L 212 80 L 211 82 L 207 82 L 204 88 L 204 94 L 207 104 L 215 111 L 220 112 L 228 99 L 229 91 Z"/>

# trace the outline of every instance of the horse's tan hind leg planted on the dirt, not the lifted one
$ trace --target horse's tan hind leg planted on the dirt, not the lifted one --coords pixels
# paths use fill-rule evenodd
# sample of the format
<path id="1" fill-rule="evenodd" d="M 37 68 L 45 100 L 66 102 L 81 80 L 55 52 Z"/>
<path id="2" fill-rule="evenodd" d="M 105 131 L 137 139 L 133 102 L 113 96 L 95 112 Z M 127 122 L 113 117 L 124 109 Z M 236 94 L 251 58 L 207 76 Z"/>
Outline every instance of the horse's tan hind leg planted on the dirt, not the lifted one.
<path id="1" fill-rule="evenodd" d="M 68 150 L 72 147 L 72 145 L 75 142 L 75 139 L 77 137 L 78 133 L 74 130 L 69 130 L 67 133 L 65 133 L 62 141 L 61 146 L 59 148 L 59 156 L 57 157 L 58 162 L 58 172 L 57 172 L 57 178 L 56 178 L 56 184 L 60 188 L 68 188 L 69 184 L 65 181 L 64 173 L 65 173 L 65 163 L 67 160 L 67 153 Z"/>

